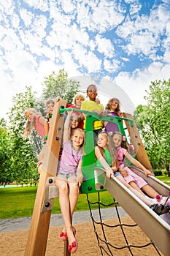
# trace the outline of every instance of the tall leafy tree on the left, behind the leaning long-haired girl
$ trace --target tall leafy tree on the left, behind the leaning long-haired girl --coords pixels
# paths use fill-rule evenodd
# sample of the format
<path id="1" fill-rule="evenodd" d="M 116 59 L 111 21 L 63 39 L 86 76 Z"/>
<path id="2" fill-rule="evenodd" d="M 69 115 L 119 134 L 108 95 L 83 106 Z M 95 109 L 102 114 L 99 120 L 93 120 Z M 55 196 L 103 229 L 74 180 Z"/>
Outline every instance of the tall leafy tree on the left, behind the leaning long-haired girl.
<path id="1" fill-rule="evenodd" d="M 16 94 L 12 98 L 12 108 L 8 113 L 10 126 L 9 135 L 11 141 L 10 154 L 12 157 L 12 176 L 16 181 L 36 177 L 36 151 L 31 139 L 23 138 L 26 123 L 25 110 L 37 106 L 31 87 L 26 87 L 26 92 Z M 38 148 L 39 151 L 39 148 Z"/>

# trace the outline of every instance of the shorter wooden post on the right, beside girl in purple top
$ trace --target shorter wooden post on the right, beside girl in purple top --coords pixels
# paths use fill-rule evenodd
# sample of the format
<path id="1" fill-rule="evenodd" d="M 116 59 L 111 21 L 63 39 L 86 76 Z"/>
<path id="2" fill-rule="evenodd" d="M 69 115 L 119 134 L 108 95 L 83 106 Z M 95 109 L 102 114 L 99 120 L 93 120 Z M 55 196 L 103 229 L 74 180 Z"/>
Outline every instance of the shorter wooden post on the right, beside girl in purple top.
<path id="1" fill-rule="evenodd" d="M 133 116 L 131 116 L 131 114 L 123 113 L 123 117 L 131 118 L 134 121 L 134 118 Z M 134 124 L 133 127 L 130 127 L 128 121 L 125 121 L 125 125 L 128 129 L 128 134 L 131 138 L 131 142 L 134 145 L 134 150 L 136 152 L 136 157 L 138 161 L 141 162 L 142 165 L 144 165 L 144 167 L 148 170 L 152 170 L 152 165 L 150 164 L 150 160 L 147 157 L 147 152 L 145 151 L 144 144 L 142 143 L 139 132 L 136 128 L 136 124 Z"/>

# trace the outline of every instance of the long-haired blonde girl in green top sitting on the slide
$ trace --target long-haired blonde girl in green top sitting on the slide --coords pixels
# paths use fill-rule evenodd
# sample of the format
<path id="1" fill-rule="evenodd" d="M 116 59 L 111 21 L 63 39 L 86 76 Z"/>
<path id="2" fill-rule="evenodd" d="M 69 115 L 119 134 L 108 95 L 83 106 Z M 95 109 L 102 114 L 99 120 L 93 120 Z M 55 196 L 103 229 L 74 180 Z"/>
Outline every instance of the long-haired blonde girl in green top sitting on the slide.
<path id="1" fill-rule="evenodd" d="M 117 159 L 115 159 L 115 152 L 112 148 L 112 140 L 109 138 L 107 132 L 101 132 L 98 134 L 98 141 L 97 146 L 95 147 L 95 154 L 97 158 L 96 165 L 104 167 L 107 173 L 107 178 L 112 178 L 112 176 L 115 176 L 115 178 L 122 182 L 125 185 L 125 187 L 128 187 L 128 189 L 130 189 L 131 192 L 133 192 L 144 203 L 146 203 L 147 206 L 150 206 L 150 208 L 152 208 L 152 210 L 155 211 L 158 215 L 165 214 L 170 210 L 169 206 L 164 206 L 158 203 L 152 204 L 150 199 L 142 195 L 139 191 L 137 191 L 136 189 L 134 189 L 125 182 L 123 176 L 121 176 L 119 172 Z"/>

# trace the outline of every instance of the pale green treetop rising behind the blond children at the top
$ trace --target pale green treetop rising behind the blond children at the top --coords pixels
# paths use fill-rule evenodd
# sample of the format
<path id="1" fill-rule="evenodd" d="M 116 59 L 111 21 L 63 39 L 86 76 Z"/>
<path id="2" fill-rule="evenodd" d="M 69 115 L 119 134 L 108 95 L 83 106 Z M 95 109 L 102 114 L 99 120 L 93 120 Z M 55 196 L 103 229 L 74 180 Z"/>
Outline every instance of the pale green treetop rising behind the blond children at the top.
<path id="1" fill-rule="evenodd" d="M 74 95 L 80 91 L 80 82 L 69 79 L 64 69 L 60 69 L 58 74 L 52 72 L 51 75 L 45 77 L 44 84 L 44 99 L 55 99 L 57 96 L 60 96 L 62 99 L 66 99 L 68 103 L 72 103 Z"/>

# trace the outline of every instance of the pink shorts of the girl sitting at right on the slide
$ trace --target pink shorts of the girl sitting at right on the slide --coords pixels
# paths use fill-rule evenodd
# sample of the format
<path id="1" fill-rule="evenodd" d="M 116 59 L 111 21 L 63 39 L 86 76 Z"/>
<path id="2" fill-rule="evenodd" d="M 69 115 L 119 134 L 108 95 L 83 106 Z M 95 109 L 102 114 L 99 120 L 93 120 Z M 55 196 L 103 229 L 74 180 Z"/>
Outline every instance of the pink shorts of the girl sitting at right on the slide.
<path id="1" fill-rule="evenodd" d="M 123 167 L 123 170 L 126 170 L 128 172 L 128 176 L 123 177 L 127 183 L 134 181 L 136 183 L 136 185 L 139 187 L 139 189 L 142 189 L 142 187 L 147 185 L 147 182 L 144 181 L 144 179 L 142 177 L 138 176 L 136 173 L 134 173 L 128 167 Z"/>

